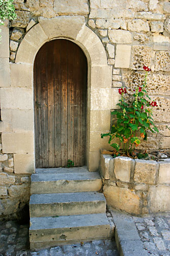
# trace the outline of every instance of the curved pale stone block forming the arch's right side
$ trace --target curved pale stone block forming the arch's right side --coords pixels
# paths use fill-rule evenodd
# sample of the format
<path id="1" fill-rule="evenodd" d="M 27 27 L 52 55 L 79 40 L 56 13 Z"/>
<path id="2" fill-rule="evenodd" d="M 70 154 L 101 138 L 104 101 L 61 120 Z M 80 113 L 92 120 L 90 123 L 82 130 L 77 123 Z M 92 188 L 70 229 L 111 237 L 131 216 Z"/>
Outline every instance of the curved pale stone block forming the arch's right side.
<path id="1" fill-rule="evenodd" d="M 99 37 L 87 26 L 83 26 L 76 37 L 76 43 L 91 58 L 92 65 L 107 65 L 107 56 Z"/>

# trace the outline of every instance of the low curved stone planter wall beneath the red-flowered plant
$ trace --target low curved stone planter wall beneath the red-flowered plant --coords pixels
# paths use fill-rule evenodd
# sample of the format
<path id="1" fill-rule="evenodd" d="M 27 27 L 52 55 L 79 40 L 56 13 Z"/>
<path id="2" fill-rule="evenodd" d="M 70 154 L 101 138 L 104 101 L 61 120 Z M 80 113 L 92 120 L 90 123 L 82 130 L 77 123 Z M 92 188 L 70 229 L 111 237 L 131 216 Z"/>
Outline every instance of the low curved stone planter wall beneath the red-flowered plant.
<path id="1" fill-rule="evenodd" d="M 138 216 L 170 211 L 170 159 L 101 155 L 100 171 L 108 205 Z"/>

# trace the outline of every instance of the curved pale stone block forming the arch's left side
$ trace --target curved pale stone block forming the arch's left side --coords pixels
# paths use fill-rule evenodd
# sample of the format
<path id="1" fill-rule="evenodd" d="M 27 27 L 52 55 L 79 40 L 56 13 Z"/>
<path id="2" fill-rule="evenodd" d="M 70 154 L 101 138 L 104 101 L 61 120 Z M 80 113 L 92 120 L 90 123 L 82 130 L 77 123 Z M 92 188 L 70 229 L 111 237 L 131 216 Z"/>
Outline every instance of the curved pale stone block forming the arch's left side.
<path id="1" fill-rule="evenodd" d="M 40 24 L 34 26 L 23 38 L 19 45 L 15 62 L 31 63 L 40 47 L 48 40 Z"/>

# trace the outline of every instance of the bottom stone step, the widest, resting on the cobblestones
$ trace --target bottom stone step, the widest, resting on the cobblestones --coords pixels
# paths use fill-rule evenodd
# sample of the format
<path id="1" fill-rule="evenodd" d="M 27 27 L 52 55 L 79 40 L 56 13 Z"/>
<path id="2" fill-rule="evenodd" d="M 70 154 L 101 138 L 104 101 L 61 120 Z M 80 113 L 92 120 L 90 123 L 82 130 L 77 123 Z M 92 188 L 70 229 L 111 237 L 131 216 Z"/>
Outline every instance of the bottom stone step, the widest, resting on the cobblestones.
<path id="1" fill-rule="evenodd" d="M 110 226 L 106 214 L 31 218 L 30 248 L 41 249 L 63 244 L 106 239 Z"/>

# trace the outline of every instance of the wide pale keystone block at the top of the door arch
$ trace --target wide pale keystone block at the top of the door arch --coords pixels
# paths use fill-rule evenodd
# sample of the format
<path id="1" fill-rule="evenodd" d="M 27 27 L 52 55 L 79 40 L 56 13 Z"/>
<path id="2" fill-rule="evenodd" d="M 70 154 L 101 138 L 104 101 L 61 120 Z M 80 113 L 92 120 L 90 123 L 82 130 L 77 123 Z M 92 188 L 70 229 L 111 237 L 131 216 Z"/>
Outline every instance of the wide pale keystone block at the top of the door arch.
<path id="1" fill-rule="evenodd" d="M 65 37 L 73 40 L 86 22 L 83 16 L 39 17 L 38 21 L 49 39 Z"/>

